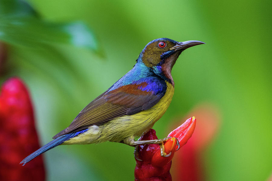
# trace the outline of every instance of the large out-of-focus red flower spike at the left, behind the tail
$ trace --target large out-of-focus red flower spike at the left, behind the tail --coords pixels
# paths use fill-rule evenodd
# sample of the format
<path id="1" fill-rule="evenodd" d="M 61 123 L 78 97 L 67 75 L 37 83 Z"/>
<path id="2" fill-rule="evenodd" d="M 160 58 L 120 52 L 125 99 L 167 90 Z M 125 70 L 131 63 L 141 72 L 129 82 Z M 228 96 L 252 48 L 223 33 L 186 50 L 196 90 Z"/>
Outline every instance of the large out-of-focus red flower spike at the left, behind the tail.
<path id="1" fill-rule="evenodd" d="M 42 157 L 24 167 L 19 164 L 38 148 L 28 91 L 19 78 L 11 78 L 0 94 L 0 180 L 44 180 Z"/>

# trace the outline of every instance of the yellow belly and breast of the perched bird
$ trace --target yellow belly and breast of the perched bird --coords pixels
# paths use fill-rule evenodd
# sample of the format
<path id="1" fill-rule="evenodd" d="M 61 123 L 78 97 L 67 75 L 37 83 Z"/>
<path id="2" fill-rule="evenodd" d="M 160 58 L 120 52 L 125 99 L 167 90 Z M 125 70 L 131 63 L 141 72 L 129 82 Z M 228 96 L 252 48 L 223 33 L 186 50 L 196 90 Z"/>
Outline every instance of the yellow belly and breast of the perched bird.
<path id="1" fill-rule="evenodd" d="M 174 87 L 168 83 L 164 96 L 160 101 L 148 110 L 134 115 L 125 115 L 115 118 L 104 125 L 90 126 L 89 130 L 75 138 L 71 138 L 64 144 L 90 144 L 104 141 L 120 142 L 127 137 L 135 138 L 151 129 L 170 105 L 174 94 Z M 94 131 L 95 130 L 95 131 Z"/>

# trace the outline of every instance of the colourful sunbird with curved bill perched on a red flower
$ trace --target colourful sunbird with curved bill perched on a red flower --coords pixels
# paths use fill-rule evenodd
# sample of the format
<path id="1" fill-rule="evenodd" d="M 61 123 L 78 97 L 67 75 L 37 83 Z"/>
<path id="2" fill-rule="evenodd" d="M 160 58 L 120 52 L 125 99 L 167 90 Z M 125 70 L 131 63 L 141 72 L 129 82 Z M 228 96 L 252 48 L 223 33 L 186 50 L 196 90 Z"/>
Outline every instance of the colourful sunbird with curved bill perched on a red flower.
<path id="1" fill-rule="evenodd" d="M 205 44 L 190 40 L 178 42 L 159 38 L 147 43 L 136 64 L 104 93 L 90 102 L 71 124 L 53 136 L 53 140 L 30 154 L 20 164 L 58 145 L 92 144 L 105 141 L 160 144 L 168 138 L 135 141 L 151 129 L 166 112 L 174 94 L 171 70 L 181 52 Z M 161 147 L 162 156 L 167 156 Z"/>

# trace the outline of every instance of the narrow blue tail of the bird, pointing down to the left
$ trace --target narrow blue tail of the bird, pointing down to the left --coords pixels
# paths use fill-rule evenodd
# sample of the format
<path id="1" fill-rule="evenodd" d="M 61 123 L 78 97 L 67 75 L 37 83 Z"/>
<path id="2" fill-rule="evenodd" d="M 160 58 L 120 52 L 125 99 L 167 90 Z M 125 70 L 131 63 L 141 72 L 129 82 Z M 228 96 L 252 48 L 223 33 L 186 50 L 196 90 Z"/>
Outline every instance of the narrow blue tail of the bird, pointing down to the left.
<path id="1" fill-rule="evenodd" d="M 37 151 L 31 153 L 30 155 L 28 155 L 24 160 L 22 160 L 20 162 L 20 164 L 23 164 L 23 166 L 28 163 L 30 160 L 32 160 L 33 158 L 39 156 L 40 154 L 52 149 L 52 148 L 55 148 L 56 146 L 62 144 L 64 141 L 67 141 L 69 140 L 70 138 L 73 138 L 83 132 L 86 132 L 88 129 L 83 129 L 83 130 L 80 130 L 80 131 L 77 131 L 77 132 L 73 132 L 73 133 L 68 133 L 66 135 L 62 135 L 52 141 L 50 141 L 49 143 L 47 143 L 46 145 L 44 145 L 43 147 L 41 147 L 40 149 L 38 149 Z"/>

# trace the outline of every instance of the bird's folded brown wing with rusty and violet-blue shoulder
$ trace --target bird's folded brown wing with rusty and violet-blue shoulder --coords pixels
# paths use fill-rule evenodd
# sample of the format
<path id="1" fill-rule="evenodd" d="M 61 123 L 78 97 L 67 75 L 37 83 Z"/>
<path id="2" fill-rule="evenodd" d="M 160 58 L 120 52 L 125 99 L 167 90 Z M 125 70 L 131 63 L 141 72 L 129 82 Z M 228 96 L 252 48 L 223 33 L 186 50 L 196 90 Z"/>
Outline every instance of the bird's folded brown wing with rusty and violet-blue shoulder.
<path id="1" fill-rule="evenodd" d="M 165 81 L 157 78 L 144 78 L 113 90 L 110 88 L 89 103 L 68 128 L 53 138 L 147 110 L 164 96 L 166 89 Z"/>

